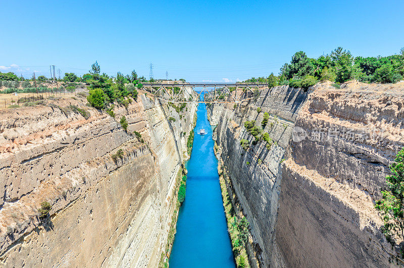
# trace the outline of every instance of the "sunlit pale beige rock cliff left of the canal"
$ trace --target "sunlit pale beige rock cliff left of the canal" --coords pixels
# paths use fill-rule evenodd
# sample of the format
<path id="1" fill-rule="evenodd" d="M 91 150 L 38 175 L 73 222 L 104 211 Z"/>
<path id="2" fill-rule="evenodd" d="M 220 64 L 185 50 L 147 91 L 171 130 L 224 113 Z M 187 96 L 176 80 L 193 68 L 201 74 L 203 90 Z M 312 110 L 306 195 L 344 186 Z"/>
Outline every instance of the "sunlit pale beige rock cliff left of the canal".
<path id="1" fill-rule="evenodd" d="M 141 94 L 114 119 L 85 103 L 78 95 L 2 111 L 2 266 L 157 266 L 196 107 L 180 118 Z M 42 202 L 52 205 L 47 220 Z"/>

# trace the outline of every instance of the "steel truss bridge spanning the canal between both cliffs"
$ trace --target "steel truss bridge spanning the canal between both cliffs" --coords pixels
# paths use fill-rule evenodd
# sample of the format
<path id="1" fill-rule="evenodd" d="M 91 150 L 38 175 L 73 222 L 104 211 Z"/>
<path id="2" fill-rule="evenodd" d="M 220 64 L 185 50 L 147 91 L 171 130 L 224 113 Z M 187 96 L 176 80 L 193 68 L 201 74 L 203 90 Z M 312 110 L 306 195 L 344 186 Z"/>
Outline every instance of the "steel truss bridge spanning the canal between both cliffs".
<path id="1" fill-rule="evenodd" d="M 175 103 L 239 103 L 251 99 L 255 90 L 268 87 L 267 84 L 238 83 L 144 83 L 142 85 L 157 98 Z M 202 90 L 196 91 L 195 88 L 202 88 Z M 203 99 L 200 98 L 201 95 Z"/>

